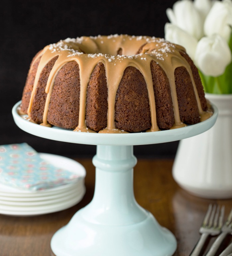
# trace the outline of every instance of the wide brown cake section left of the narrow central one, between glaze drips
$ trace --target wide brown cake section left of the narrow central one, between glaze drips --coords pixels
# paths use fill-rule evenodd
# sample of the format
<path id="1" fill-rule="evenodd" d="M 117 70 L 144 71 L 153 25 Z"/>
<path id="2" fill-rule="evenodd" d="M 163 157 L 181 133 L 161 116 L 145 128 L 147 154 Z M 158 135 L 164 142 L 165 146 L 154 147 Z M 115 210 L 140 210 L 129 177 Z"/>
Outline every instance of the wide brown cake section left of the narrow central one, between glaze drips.
<path id="1" fill-rule="evenodd" d="M 74 129 L 78 125 L 80 98 L 79 67 L 68 62 L 58 72 L 48 110 L 48 122 L 61 128 Z"/>

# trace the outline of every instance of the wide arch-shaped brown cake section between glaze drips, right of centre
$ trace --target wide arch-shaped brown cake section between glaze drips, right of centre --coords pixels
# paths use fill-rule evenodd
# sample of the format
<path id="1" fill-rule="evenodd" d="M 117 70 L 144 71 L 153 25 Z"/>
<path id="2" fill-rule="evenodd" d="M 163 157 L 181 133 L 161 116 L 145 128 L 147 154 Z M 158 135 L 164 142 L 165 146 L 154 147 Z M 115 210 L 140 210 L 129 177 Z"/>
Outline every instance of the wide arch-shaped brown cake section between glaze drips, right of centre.
<path id="1" fill-rule="evenodd" d="M 147 85 L 143 75 L 134 67 L 125 69 L 117 90 L 115 126 L 127 132 L 151 128 Z"/>

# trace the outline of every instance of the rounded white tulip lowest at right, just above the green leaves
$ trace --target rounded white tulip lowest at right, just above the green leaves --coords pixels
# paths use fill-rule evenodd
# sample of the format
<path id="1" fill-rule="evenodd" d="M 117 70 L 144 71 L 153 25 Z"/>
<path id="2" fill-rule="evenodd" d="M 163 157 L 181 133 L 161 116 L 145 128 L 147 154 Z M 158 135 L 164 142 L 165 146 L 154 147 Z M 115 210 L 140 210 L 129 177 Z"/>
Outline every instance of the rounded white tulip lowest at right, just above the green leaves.
<path id="1" fill-rule="evenodd" d="M 231 51 L 224 38 L 218 34 L 202 37 L 197 44 L 195 64 L 204 75 L 219 76 L 231 62 Z"/>

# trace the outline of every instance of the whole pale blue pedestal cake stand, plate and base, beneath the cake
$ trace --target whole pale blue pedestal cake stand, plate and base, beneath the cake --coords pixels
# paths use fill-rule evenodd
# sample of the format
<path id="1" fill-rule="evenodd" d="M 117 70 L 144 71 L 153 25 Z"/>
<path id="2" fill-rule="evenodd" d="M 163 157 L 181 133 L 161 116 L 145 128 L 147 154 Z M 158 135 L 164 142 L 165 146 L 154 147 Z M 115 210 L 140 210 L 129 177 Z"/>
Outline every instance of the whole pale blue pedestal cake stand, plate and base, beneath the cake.
<path id="1" fill-rule="evenodd" d="M 15 123 L 22 130 L 57 141 L 97 145 L 93 164 L 96 167 L 92 201 L 77 211 L 69 223 L 51 240 L 56 256 L 171 256 L 176 239 L 155 217 L 135 200 L 133 167 L 137 163 L 133 145 L 180 140 L 200 134 L 212 127 L 217 118 L 168 131 L 98 134 L 73 132 L 28 122 L 12 109 Z"/>

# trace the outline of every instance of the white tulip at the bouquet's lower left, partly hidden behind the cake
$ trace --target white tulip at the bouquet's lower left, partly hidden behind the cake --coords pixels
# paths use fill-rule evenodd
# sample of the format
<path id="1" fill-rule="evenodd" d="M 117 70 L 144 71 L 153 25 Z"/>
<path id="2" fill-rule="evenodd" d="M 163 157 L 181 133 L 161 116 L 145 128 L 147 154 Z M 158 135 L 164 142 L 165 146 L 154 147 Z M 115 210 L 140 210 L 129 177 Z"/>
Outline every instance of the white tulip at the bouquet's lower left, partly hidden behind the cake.
<path id="1" fill-rule="evenodd" d="M 179 44 L 186 49 L 187 54 L 193 59 L 195 55 L 197 40 L 179 27 L 165 24 L 165 39 L 174 44 Z"/>

